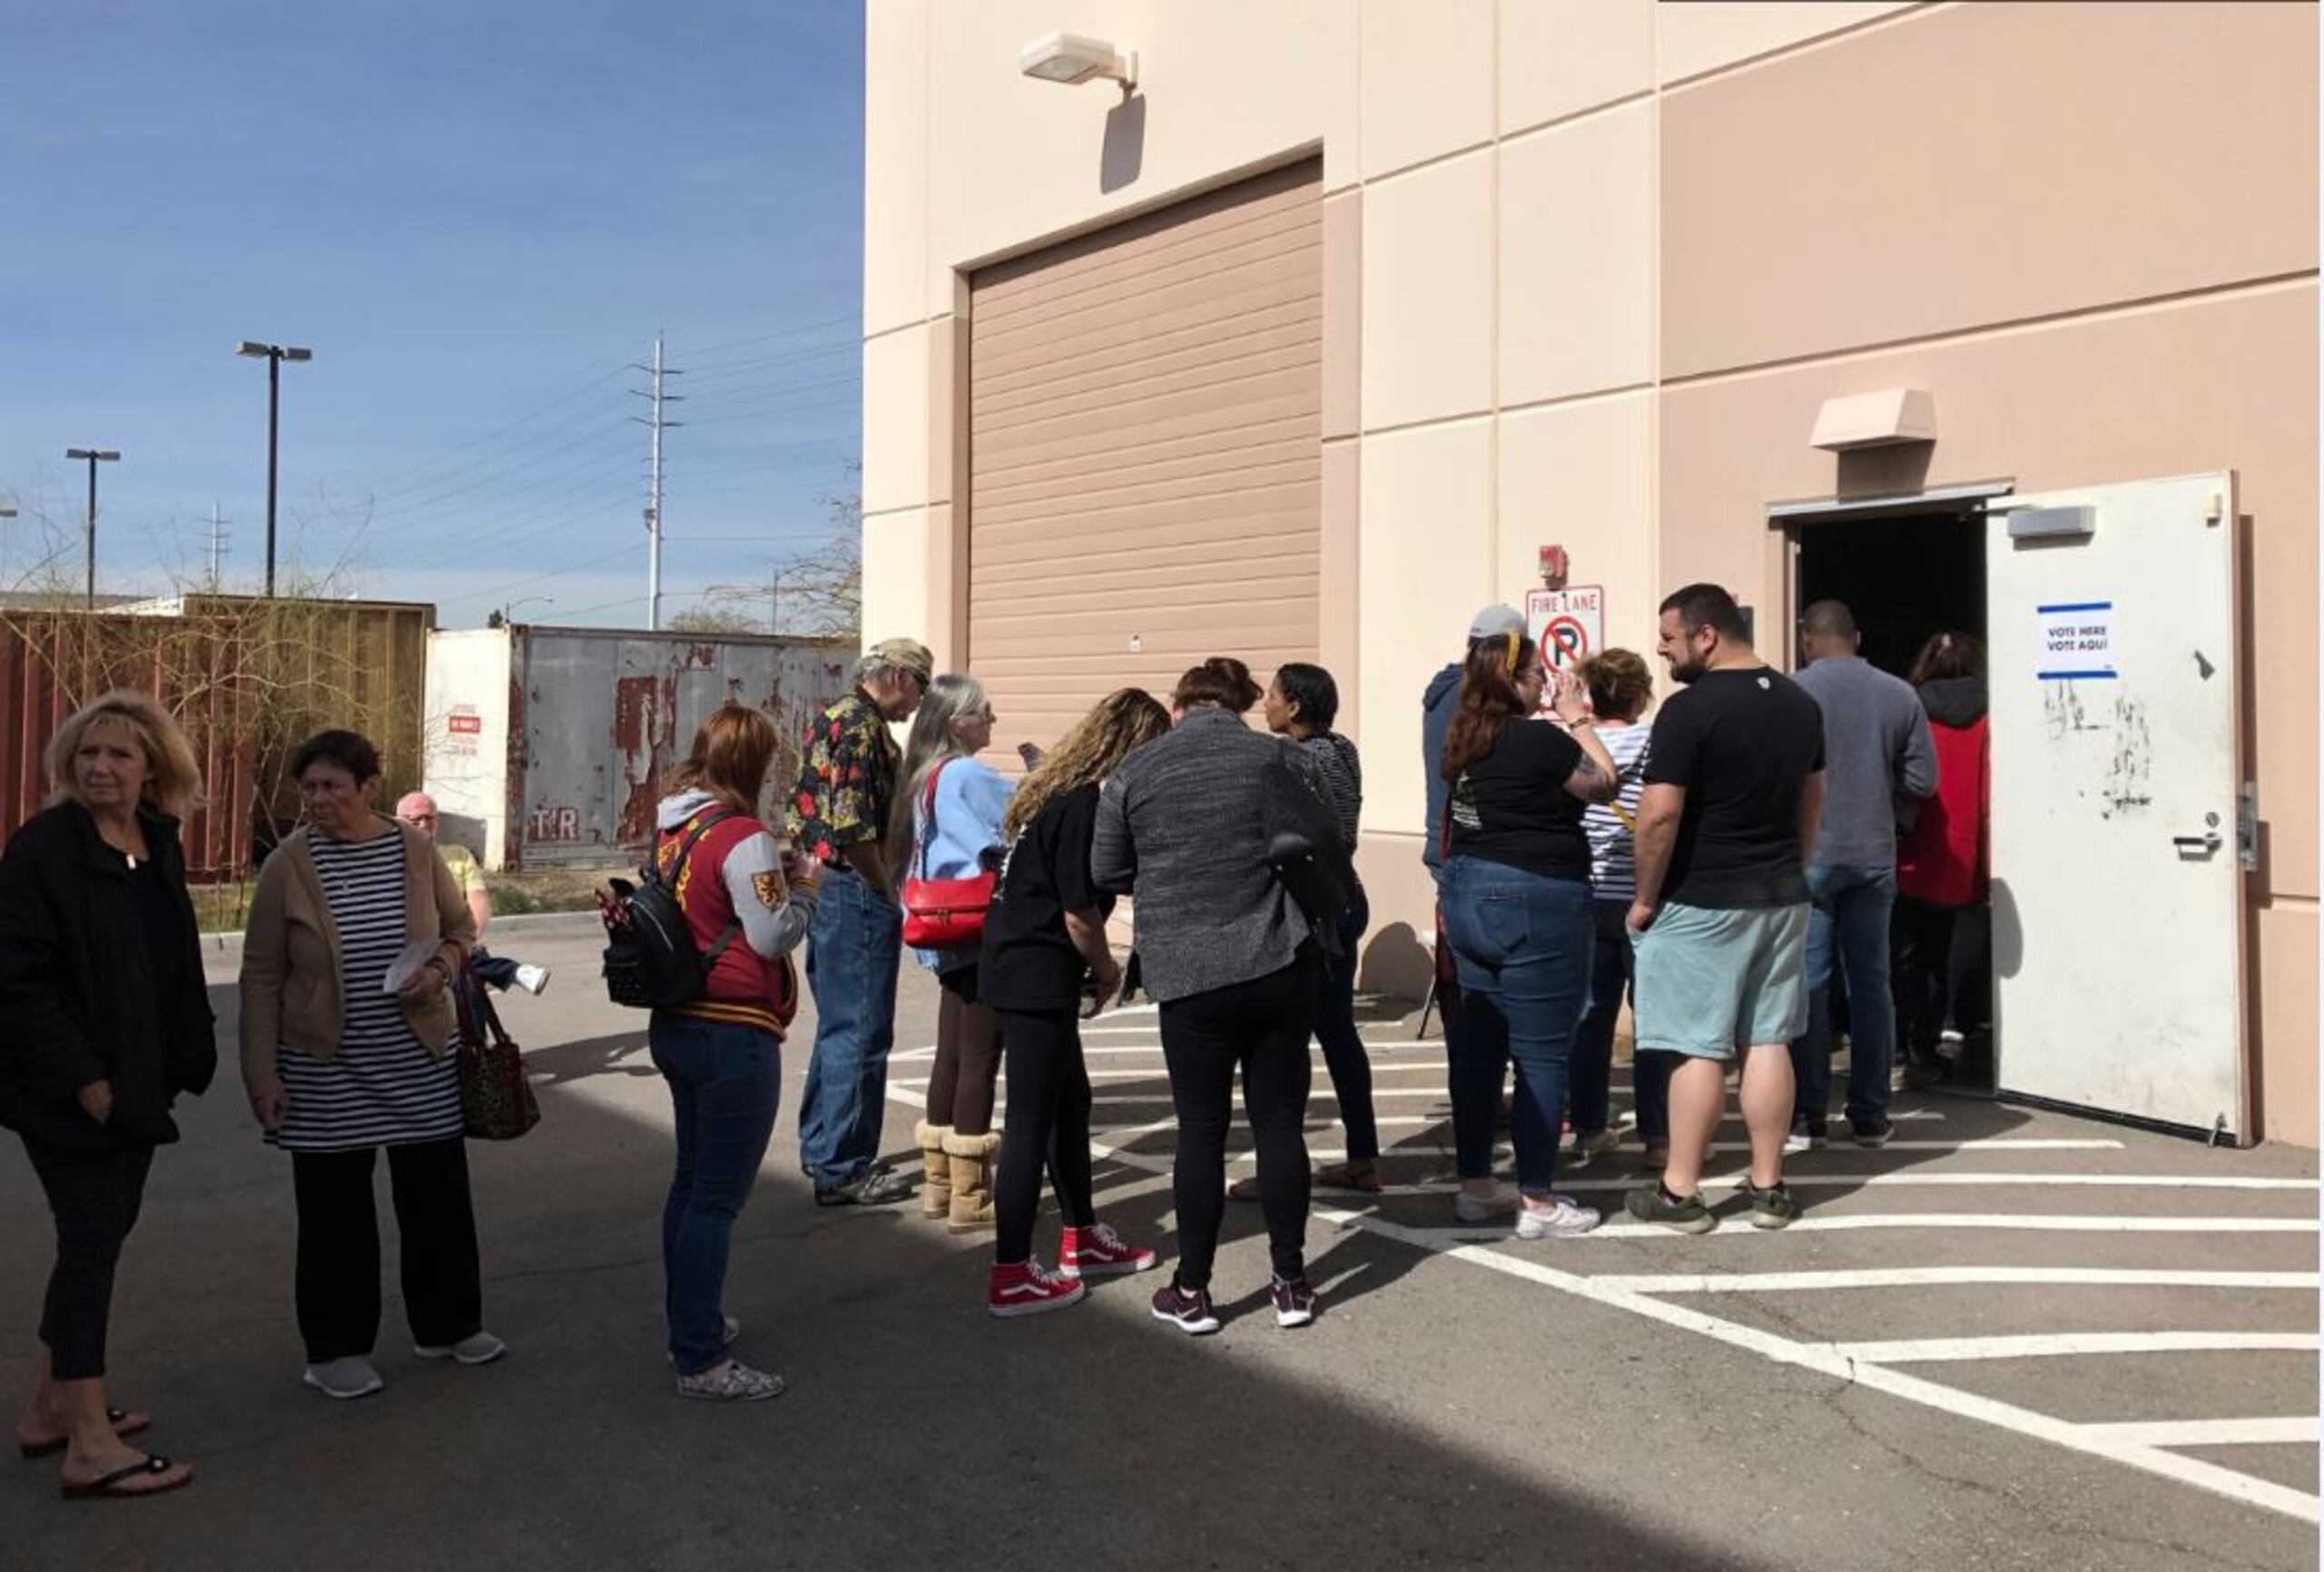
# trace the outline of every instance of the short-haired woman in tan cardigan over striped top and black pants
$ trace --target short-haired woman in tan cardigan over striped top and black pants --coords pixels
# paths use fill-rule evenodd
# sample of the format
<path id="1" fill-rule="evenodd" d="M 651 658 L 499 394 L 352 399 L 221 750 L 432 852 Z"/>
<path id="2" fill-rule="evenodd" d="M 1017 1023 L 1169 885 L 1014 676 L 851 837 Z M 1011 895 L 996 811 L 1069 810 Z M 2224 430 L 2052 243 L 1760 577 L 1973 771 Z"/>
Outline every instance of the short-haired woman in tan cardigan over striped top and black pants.
<path id="1" fill-rule="evenodd" d="M 242 1084 L 297 1203 L 300 1377 L 325 1398 L 383 1386 L 379 1203 L 388 1154 L 411 1354 L 486 1365 L 451 980 L 476 943 L 435 843 L 376 806 L 379 748 L 316 731 L 290 752 L 307 822 L 258 868 L 242 933 Z"/>

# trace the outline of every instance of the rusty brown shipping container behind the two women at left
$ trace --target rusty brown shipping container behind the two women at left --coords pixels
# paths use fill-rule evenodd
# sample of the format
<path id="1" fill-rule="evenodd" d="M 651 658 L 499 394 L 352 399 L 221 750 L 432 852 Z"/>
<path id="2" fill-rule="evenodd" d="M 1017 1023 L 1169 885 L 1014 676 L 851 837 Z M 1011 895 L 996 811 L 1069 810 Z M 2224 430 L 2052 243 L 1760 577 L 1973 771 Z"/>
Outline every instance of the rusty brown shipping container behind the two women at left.
<path id="1" fill-rule="evenodd" d="M 421 680 L 435 608 L 404 601 L 188 597 L 158 613 L 0 615 L 0 843 L 49 799 L 58 724 L 109 687 L 149 692 L 202 764 L 184 827 L 195 880 L 230 880 L 295 822 L 290 748 L 325 727 L 379 745 L 383 787 L 421 778 Z"/>

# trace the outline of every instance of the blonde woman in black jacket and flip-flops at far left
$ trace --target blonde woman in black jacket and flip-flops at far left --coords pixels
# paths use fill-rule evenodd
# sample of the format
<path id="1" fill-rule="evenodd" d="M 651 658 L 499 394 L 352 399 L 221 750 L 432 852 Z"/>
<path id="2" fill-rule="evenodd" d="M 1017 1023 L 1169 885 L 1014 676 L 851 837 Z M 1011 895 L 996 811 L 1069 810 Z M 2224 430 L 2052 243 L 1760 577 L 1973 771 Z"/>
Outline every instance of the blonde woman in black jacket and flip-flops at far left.
<path id="1" fill-rule="evenodd" d="M 56 1214 L 46 1358 L 16 1444 L 63 1454 L 65 1495 L 158 1495 L 193 1468 L 123 1440 L 151 1421 L 107 1407 L 105 1333 L 153 1147 L 177 1140 L 170 1108 L 218 1068 L 179 850 L 202 778 L 139 692 L 77 711 L 46 764 L 56 794 L 0 857 L 0 1124 Z"/>

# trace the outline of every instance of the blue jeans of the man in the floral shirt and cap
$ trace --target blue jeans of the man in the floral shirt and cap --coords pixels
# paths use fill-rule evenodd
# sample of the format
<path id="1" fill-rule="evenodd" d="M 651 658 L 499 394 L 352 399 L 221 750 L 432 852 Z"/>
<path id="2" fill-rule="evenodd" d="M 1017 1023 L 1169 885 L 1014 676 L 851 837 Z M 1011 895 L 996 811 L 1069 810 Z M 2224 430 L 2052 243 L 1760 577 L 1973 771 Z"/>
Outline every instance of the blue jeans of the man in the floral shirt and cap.
<path id="1" fill-rule="evenodd" d="M 806 931 L 816 1050 L 799 1094 L 799 1163 L 816 1189 L 860 1180 L 878 1159 L 902 957 L 902 908 L 853 868 L 825 868 L 816 924 Z"/>

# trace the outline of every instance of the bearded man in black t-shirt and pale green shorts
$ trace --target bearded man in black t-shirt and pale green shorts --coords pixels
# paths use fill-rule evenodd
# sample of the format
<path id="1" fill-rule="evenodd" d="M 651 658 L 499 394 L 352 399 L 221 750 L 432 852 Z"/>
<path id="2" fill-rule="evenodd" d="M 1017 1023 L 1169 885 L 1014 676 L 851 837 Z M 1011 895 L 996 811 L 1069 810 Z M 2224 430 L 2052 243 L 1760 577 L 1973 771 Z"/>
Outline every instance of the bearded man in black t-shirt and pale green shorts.
<path id="1" fill-rule="evenodd" d="M 1717 1226 L 1703 1152 L 1727 1112 L 1727 1061 L 1743 1059 L 1750 1219 L 1783 1228 L 1792 1126 L 1789 1043 L 1806 1026 L 1808 880 L 1824 806 L 1824 718 L 1752 652 L 1717 585 L 1662 601 L 1657 650 L 1685 685 L 1655 718 L 1638 806 L 1638 1052 L 1680 1054 L 1671 1075 L 1671 1161 L 1629 1194 L 1629 1214 L 1683 1233 Z"/>

